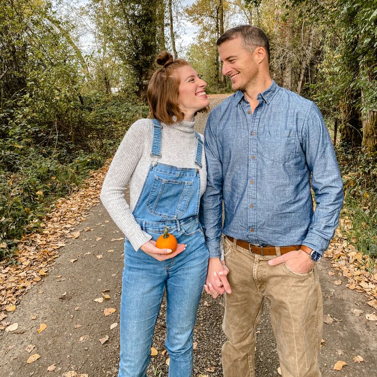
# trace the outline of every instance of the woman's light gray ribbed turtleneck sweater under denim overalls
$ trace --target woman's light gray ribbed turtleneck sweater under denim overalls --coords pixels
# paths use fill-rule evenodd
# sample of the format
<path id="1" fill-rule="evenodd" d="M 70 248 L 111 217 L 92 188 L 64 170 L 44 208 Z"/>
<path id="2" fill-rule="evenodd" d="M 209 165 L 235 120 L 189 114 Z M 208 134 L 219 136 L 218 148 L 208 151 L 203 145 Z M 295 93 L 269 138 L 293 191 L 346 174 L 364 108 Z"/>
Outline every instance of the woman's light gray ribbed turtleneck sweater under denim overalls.
<path id="1" fill-rule="evenodd" d="M 140 119 L 132 124 L 115 153 L 100 195 L 104 207 L 135 250 L 152 238 L 141 230 L 132 214 L 151 163 L 158 161 L 177 167 L 198 167 L 195 164 L 197 146 L 194 132 L 195 122 L 181 121 L 173 124 L 161 124 L 160 158 L 151 156 L 152 120 Z M 203 167 L 199 174 L 200 195 L 204 193 L 206 185 L 204 149 L 202 164 Z M 124 190 L 128 182 L 130 182 L 130 204 L 124 197 Z"/>

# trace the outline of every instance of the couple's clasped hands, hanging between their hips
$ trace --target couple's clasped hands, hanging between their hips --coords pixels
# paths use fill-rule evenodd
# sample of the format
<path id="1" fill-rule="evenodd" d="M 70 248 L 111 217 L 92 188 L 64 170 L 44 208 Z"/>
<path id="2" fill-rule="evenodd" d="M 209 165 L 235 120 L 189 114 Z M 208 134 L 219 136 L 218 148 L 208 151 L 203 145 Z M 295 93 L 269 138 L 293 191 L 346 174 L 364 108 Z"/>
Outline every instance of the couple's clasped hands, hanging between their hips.
<path id="1" fill-rule="evenodd" d="M 231 286 L 226 277 L 228 273 L 229 268 L 226 267 L 224 261 L 220 261 L 220 258 L 209 259 L 207 278 L 204 284 L 204 289 L 208 295 L 216 299 L 219 295 L 223 295 L 224 291 L 227 294 L 232 293 Z"/>

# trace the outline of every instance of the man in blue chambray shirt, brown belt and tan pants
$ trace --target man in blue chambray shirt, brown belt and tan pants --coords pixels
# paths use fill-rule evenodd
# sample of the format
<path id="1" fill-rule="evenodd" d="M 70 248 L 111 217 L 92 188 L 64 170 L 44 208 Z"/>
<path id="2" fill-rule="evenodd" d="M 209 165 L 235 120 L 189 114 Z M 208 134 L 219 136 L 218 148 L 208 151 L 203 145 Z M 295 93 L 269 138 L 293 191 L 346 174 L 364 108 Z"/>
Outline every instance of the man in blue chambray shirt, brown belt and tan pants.
<path id="1" fill-rule="evenodd" d="M 205 289 L 214 297 L 226 291 L 224 377 L 255 375 L 264 297 L 283 377 L 318 377 L 322 295 L 316 262 L 343 202 L 337 159 L 317 106 L 271 80 L 261 29 L 230 29 L 217 45 L 222 73 L 237 92 L 212 111 L 205 128 L 201 221 L 210 250 Z"/>

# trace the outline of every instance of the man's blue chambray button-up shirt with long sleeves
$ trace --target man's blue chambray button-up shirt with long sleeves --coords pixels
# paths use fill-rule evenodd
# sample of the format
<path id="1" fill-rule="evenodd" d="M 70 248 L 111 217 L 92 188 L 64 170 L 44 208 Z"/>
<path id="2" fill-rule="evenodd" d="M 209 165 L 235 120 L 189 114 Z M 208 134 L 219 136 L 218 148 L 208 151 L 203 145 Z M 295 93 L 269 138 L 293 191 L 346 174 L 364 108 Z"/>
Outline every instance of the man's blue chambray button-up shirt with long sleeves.
<path id="1" fill-rule="evenodd" d="M 338 225 L 343 184 L 321 112 L 275 81 L 258 100 L 252 113 L 238 91 L 207 120 L 200 221 L 210 258 L 220 256 L 222 233 L 254 244 L 304 244 L 323 254 Z"/>

